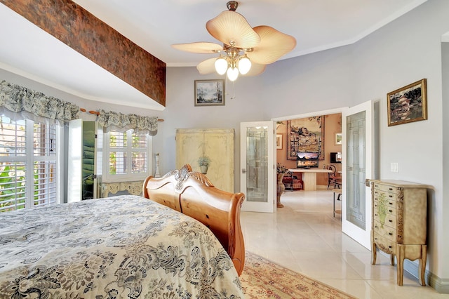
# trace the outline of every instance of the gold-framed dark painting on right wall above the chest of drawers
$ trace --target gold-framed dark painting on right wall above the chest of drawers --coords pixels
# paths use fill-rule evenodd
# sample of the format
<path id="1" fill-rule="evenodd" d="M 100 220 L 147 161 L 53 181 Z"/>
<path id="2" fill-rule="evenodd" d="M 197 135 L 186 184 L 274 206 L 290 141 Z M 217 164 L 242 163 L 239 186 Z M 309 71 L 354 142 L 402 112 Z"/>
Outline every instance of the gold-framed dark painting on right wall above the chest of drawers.
<path id="1" fill-rule="evenodd" d="M 427 80 L 387 93 L 388 126 L 427 119 Z"/>

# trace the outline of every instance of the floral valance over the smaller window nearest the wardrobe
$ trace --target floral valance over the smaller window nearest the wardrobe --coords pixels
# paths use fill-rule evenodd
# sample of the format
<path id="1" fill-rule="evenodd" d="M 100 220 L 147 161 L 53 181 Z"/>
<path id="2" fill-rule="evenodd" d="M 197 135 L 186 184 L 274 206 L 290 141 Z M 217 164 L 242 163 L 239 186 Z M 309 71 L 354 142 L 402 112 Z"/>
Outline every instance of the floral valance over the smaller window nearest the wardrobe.
<path id="1" fill-rule="evenodd" d="M 133 129 L 136 132 L 149 133 L 152 136 L 157 133 L 157 117 L 141 117 L 136 114 L 106 112 L 100 109 L 97 121 L 106 131 L 128 131 Z"/>

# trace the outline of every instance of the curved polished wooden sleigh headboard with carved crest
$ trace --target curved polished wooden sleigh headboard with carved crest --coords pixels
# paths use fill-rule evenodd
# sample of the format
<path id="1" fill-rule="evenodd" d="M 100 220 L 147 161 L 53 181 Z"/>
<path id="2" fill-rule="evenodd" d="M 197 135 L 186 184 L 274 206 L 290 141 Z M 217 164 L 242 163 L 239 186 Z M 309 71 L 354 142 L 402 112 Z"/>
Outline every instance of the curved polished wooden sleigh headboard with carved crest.
<path id="1" fill-rule="evenodd" d="M 208 227 L 232 259 L 240 275 L 245 264 L 245 244 L 240 208 L 245 195 L 217 189 L 202 173 L 186 164 L 162 178 L 149 176 L 143 183 L 145 198 L 173 208 Z"/>

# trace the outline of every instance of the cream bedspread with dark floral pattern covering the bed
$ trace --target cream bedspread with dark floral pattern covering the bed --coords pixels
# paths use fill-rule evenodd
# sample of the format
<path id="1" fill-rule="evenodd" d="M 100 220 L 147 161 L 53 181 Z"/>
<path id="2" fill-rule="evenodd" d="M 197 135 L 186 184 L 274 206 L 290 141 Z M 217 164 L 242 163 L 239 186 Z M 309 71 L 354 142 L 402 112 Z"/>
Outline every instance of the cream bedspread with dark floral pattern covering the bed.
<path id="1" fill-rule="evenodd" d="M 0 298 L 244 298 L 201 222 L 124 195 L 0 214 Z"/>

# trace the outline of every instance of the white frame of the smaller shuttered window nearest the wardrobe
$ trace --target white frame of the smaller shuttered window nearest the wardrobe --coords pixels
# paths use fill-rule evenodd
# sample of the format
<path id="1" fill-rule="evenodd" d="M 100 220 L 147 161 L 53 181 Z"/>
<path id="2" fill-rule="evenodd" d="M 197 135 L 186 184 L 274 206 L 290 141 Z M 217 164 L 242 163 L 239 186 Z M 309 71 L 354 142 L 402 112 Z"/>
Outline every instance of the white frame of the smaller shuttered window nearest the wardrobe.
<path id="1" fill-rule="evenodd" d="M 114 131 L 117 132 L 117 131 Z M 127 150 L 126 154 L 128 157 L 132 157 L 132 133 L 133 130 L 127 131 Z M 151 135 L 147 133 L 147 150 L 145 151 L 147 153 L 147 172 L 145 173 L 126 173 L 126 174 L 109 174 L 109 154 L 111 152 L 114 152 L 109 147 L 109 140 L 110 140 L 110 134 L 109 132 L 103 134 L 103 145 L 105 154 L 103 154 L 103 161 L 102 161 L 102 182 L 131 182 L 135 180 L 145 180 L 147 178 L 151 171 L 152 171 L 152 145 L 153 145 L 153 138 Z M 130 163 L 132 159 L 128 159 L 128 167 L 130 168 Z"/>

